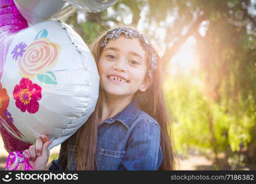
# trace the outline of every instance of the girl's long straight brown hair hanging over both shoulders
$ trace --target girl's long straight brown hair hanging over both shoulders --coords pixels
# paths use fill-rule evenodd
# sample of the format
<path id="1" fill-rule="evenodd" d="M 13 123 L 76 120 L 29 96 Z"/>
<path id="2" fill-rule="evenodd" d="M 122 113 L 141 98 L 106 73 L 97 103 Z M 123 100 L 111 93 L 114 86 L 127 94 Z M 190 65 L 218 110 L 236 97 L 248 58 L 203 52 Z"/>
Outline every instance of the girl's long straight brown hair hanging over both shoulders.
<path id="1" fill-rule="evenodd" d="M 100 59 L 103 47 L 100 47 L 107 32 L 98 37 L 97 40 L 91 45 L 91 50 L 94 55 L 96 63 Z M 156 51 L 155 51 L 156 52 Z M 159 56 L 158 62 L 159 62 Z M 137 91 L 134 95 L 134 100 L 138 107 L 153 117 L 161 129 L 161 148 L 163 153 L 163 161 L 159 170 L 174 170 L 175 169 L 175 153 L 172 145 L 171 126 L 168 117 L 167 107 L 164 100 L 162 90 L 162 75 L 158 63 L 158 69 L 153 73 L 153 82 L 148 90 L 144 93 Z M 146 77 L 149 77 L 146 72 Z M 97 149 L 97 129 L 98 123 L 102 117 L 102 94 L 103 90 L 100 88 L 100 93 L 95 107 L 95 111 L 90 115 L 87 122 L 79 128 L 79 130 L 70 139 L 75 139 L 76 153 L 78 160 L 76 161 L 77 170 L 94 170 L 95 169 L 95 156 Z M 64 144 L 65 158 L 67 158 L 67 146 L 70 141 L 68 139 Z M 70 163 L 73 160 L 71 157 Z M 70 164 L 67 163 L 67 164 Z"/>

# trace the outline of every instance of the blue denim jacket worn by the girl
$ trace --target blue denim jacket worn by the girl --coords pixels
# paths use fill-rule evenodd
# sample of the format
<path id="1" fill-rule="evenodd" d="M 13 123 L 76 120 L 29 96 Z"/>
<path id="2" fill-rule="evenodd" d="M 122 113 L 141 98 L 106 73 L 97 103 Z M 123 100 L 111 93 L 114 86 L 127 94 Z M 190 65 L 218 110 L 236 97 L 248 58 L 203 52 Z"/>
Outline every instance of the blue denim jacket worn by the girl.
<path id="1" fill-rule="evenodd" d="M 64 150 L 60 148 L 60 157 Z M 68 158 L 74 144 L 68 145 Z M 52 161 L 49 170 L 63 170 L 62 159 Z M 76 156 L 68 170 L 76 170 Z M 95 170 L 158 170 L 162 163 L 158 122 L 134 101 L 98 126 Z"/>

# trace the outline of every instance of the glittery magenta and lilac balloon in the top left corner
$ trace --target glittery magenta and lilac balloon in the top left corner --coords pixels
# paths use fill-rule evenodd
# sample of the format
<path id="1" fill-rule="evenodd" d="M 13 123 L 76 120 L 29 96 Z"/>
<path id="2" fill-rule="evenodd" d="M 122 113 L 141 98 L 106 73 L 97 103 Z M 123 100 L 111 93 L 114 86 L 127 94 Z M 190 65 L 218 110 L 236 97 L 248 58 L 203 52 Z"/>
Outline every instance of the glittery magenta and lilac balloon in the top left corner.
<path id="1" fill-rule="evenodd" d="M 28 23 L 22 17 L 14 0 L 1 0 L 0 1 L 0 81 L 6 55 L 12 39 L 18 31 L 27 28 Z"/>

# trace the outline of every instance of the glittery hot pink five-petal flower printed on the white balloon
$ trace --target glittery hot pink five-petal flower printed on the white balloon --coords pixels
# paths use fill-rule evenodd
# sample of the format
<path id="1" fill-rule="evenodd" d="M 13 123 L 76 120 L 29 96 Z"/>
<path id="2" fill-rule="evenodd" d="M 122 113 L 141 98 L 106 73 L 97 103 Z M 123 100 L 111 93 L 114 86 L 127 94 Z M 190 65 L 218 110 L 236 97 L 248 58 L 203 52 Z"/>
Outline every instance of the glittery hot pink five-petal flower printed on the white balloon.
<path id="1" fill-rule="evenodd" d="M 38 101 L 42 98 L 42 88 L 30 79 L 22 78 L 20 85 L 14 88 L 15 105 L 22 112 L 36 113 L 39 110 Z"/>

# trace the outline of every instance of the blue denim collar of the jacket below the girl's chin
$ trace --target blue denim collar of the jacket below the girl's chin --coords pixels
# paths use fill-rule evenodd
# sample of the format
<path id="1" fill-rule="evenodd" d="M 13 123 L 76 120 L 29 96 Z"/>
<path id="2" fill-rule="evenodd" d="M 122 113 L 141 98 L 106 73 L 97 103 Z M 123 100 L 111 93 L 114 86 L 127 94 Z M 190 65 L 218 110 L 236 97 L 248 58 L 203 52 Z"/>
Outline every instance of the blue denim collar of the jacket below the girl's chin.
<path id="1" fill-rule="evenodd" d="M 111 124 L 114 123 L 114 121 L 119 121 L 129 129 L 130 123 L 137 117 L 138 112 L 140 112 L 140 109 L 138 109 L 136 102 L 132 101 L 121 112 L 117 113 L 112 118 L 106 119 L 103 123 Z"/>

